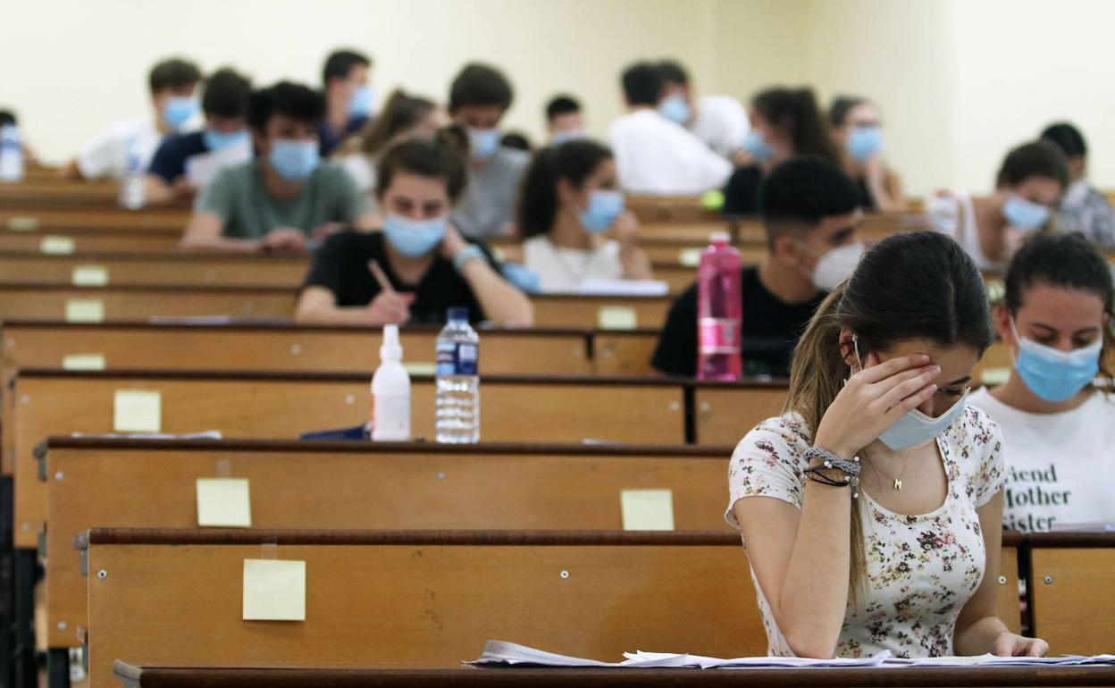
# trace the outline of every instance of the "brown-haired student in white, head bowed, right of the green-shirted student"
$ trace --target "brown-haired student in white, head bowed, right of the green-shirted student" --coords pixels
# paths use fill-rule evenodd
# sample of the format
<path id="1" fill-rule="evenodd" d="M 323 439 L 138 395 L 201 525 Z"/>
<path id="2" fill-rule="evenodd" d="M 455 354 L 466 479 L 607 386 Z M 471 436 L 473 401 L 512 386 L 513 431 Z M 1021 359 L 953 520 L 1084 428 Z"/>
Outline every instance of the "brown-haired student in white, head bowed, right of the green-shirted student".
<path id="1" fill-rule="evenodd" d="M 337 159 L 356 181 L 360 193 L 374 192 L 379 154 L 404 138 L 433 138 L 439 124 L 433 101 L 397 89 L 387 99 L 380 116 L 366 124 L 337 152 Z"/>

